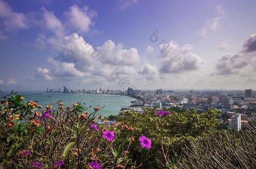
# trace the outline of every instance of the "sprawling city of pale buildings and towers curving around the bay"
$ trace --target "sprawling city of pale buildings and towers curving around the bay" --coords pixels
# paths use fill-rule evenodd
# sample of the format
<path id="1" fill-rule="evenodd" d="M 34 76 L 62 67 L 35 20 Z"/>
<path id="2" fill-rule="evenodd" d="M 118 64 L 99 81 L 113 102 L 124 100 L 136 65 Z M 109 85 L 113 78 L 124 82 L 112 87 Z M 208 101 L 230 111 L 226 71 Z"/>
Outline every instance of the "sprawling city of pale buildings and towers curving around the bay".
<path id="1" fill-rule="evenodd" d="M 218 121 L 223 128 L 229 127 L 238 131 L 245 129 L 248 123 L 256 119 L 256 93 L 252 89 L 246 89 L 245 91 L 170 91 L 164 89 L 147 91 L 129 87 L 126 91 L 122 91 L 104 90 L 102 88 L 69 90 L 64 87 L 63 90 L 60 88 L 58 90 L 47 88 L 47 92 L 131 96 L 137 100 L 131 101 L 131 106 L 123 107 L 120 111 L 138 113 L 143 113 L 143 107 L 165 108 L 176 112 L 193 109 L 198 113 L 202 113 L 208 108 L 214 108 L 219 111 Z"/>

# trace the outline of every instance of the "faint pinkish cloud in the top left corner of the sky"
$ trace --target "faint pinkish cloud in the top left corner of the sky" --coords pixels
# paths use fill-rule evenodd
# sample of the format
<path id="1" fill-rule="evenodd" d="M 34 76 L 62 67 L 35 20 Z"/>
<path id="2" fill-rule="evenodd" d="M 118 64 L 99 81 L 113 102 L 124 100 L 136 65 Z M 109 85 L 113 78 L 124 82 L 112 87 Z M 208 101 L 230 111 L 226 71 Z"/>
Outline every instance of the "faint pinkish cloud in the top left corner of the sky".
<path id="1" fill-rule="evenodd" d="M 16 13 L 8 3 L 0 0 L 0 18 L 3 18 L 5 30 L 13 31 L 19 28 L 27 28 L 24 13 Z"/>

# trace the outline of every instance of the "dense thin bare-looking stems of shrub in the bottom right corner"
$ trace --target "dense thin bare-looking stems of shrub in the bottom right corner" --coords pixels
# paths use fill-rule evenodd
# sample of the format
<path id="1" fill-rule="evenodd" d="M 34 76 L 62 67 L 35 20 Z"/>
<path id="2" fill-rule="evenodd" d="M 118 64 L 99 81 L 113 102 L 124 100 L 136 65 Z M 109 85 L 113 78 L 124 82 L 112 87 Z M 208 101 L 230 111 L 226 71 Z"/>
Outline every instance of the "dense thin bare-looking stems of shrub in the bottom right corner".
<path id="1" fill-rule="evenodd" d="M 256 122 L 246 131 L 214 131 L 209 138 L 196 139 L 177 162 L 180 168 L 255 169 Z"/>

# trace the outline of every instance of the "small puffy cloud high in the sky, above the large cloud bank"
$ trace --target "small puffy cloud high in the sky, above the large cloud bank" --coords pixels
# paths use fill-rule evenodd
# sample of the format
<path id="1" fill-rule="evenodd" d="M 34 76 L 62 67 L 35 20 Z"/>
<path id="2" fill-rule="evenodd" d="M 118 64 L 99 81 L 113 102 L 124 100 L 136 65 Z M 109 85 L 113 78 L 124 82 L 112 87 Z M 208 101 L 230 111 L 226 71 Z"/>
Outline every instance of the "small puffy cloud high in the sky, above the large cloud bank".
<path id="1" fill-rule="evenodd" d="M 69 8 L 68 12 L 65 13 L 68 21 L 67 24 L 73 29 L 79 29 L 81 32 L 88 32 L 90 25 L 94 25 L 91 20 L 97 15 L 95 10 L 89 10 L 87 6 L 79 8 L 77 5 L 73 5 Z"/>

